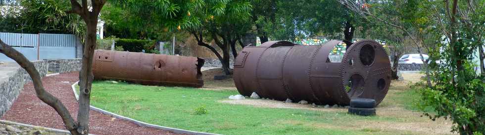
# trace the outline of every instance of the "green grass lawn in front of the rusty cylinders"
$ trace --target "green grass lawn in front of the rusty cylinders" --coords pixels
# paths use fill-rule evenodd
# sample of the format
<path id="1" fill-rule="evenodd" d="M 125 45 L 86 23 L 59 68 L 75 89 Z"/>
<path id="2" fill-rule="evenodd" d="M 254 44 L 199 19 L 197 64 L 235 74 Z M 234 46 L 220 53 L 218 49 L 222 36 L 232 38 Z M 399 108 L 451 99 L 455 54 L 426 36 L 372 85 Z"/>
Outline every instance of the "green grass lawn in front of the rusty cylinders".
<path id="1" fill-rule="evenodd" d="M 378 108 L 378 116 L 371 117 L 347 114 L 345 108 L 325 111 L 329 109 L 256 107 L 221 102 L 237 94 L 235 88 L 209 90 L 95 81 L 91 103 L 150 124 L 224 135 L 419 134 L 413 130 L 392 130 L 382 126 L 426 121 L 419 117 L 414 119 L 413 106 L 403 105 L 409 104 L 410 99 L 417 99 L 416 93 L 407 91 L 389 92 L 387 99 L 391 100 L 380 105 L 384 106 L 384 113 L 380 115 Z M 393 106 L 402 106 L 412 115 L 388 114 L 388 110 L 393 112 Z M 197 114 L 197 108 L 208 113 Z M 409 117 L 413 118 L 410 120 Z"/>

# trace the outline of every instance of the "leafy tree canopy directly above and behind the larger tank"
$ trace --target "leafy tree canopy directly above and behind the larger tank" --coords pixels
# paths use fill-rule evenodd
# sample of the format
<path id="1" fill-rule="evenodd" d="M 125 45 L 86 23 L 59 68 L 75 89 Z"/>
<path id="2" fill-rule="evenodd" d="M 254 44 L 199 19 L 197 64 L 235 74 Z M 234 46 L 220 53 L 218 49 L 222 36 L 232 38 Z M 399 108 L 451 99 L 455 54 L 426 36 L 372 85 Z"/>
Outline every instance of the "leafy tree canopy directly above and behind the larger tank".
<path id="1" fill-rule="evenodd" d="M 336 0 L 281 0 L 277 9 L 276 22 L 267 24 L 270 27 L 266 29 L 276 39 L 324 35 L 343 38 L 348 47 L 355 30 L 365 24 Z"/>

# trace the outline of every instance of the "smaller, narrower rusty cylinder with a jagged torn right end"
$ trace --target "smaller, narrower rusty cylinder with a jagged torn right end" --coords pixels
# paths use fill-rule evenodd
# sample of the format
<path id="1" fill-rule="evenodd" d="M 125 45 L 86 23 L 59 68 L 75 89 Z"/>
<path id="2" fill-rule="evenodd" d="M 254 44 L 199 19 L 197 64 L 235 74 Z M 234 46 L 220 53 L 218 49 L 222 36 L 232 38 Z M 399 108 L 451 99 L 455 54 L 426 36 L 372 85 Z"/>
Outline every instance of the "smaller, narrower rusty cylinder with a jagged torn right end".
<path id="1" fill-rule="evenodd" d="M 95 50 L 95 79 L 114 79 L 144 85 L 202 87 L 204 59 L 197 57 Z"/>

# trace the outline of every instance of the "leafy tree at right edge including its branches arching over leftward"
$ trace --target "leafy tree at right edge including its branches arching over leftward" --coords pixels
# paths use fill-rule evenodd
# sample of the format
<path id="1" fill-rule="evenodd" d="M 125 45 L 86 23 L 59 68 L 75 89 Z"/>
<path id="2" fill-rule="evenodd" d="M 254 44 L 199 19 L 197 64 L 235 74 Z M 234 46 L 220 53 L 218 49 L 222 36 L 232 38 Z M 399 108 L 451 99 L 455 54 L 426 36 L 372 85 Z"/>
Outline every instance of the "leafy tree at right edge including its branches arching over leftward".
<path id="1" fill-rule="evenodd" d="M 484 34 L 480 30 L 485 25 L 485 1 L 340 1 L 367 19 L 408 34 L 418 51 L 424 44 L 430 59 L 421 58 L 428 69 L 428 79 L 419 91 L 423 99 L 420 106 L 436 111 L 425 113 L 430 119 L 450 118 L 454 123 L 452 131 L 462 135 L 485 132 L 485 79 L 483 73 L 475 72 L 472 62 L 472 52 L 483 47 Z M 401 8 L 387 12 L 380 10 L 383 7 Z M 478 51 L 483 53 L 483 49 Z M 441 62 L 435 63 L 436 60 Z"/>

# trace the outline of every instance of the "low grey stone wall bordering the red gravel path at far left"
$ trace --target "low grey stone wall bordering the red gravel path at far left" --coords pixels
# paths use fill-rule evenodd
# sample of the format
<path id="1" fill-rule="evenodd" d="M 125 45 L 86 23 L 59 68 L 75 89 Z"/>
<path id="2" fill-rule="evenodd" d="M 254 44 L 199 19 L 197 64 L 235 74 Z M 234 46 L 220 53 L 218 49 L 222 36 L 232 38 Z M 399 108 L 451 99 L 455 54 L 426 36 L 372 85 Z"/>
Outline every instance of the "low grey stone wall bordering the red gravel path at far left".
<path id="1" fill-rule="evenodd" d="M 69 72 L 81 69 L 80 59 L 73 60 L 43 60 L 33 62 L 39 74 L 44 77 L 47 72 Z M 52 64 L 52 65 L 51 65 Z M 32 81 L 30 75 L 16 63 L 0 65 L 0 117 L 17 99 L 24 84 Z"/>

